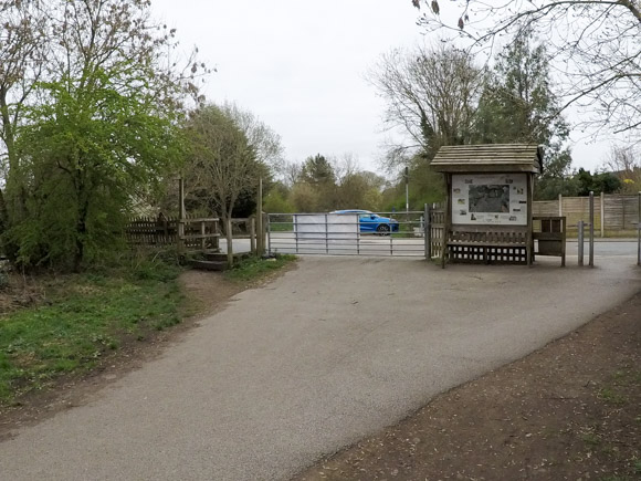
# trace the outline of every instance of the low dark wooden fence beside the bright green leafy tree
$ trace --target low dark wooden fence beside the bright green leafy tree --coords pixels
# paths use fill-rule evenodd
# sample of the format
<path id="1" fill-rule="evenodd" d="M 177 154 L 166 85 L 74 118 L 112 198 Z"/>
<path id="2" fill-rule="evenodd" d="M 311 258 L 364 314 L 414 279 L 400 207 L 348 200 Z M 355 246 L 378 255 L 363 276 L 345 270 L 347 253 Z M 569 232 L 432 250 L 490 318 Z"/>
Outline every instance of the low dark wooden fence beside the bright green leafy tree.
<path id="1" fill-rule="evenodd" d="M 125 229 L 125 239 L 129 245 L 164 248 L 179 245 L 187 250 L 217 250 L 220 228 L 218 218 L 191 218 L 182 220 L 180 229 L 178 218 L 137 218 Z"/>

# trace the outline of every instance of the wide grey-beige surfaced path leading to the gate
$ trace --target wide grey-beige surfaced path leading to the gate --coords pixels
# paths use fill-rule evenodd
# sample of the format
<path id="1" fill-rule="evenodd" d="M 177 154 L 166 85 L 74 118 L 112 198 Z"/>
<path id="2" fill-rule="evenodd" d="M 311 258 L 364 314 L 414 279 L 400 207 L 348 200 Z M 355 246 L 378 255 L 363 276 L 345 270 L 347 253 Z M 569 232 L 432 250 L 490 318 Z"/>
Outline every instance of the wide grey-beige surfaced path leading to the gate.
<path id="1" fill-rule="evenodd" d="M 0 479 L 287 479 L 641 290 L 628 259 L 557 265 L 303 259 L 0 443 Z"/>

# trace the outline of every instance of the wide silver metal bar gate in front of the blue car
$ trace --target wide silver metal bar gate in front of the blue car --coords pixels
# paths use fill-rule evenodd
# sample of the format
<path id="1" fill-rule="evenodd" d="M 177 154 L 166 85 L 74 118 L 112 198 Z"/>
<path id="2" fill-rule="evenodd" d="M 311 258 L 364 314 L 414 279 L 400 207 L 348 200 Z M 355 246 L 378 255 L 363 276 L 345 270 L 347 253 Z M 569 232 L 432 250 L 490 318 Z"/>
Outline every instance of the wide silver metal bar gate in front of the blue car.
<path id="1" fill-rule="evenodd" d="M 429 259 L 439 250 L 439 240 L 432 240 L 434 213 L 427 207 L 408 212 L 270 213 L 267 253 Z"/>

